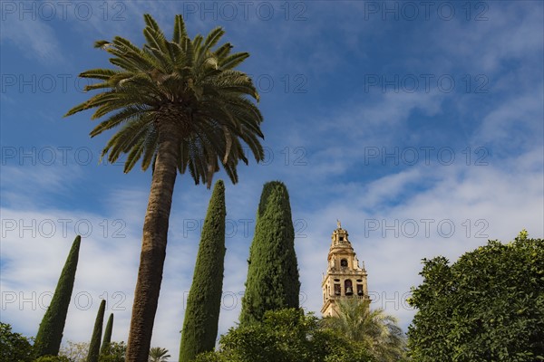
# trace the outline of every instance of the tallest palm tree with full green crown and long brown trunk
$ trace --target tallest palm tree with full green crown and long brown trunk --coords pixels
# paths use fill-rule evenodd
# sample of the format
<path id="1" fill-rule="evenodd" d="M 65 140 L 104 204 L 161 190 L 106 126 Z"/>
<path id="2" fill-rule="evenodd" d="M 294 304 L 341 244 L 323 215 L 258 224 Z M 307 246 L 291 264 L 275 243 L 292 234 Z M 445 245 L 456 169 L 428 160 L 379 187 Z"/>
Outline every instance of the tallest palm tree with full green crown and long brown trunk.
<path id="1" fill-rule="evenodd" d="M 263 118 L 255 103 L 258 93 L 248 75 L 234 68 L 247 52 L 230 53 L 232 45 L 218 45 L 225 33 L 212 30 L 206 38 L 189 38 L 181 15 L 176 15 L 171 41 L 144 14 L 146 43 L 142 48 L 116 36 L 94 44 L 112 54 L 114 69 L 83 71 L 80 77 L 99 80 L 85 90 L 101 90 L 66 116 L 96 109 L 92 119 L 108 115 L 91 137 L 121 127 L 102 150 L 115 162 L 128 154 L 124 172 L 141 158 L 141 168 L 152 165 L 151 192 L 143 224 L 140 268 L 134 292 L 127 361 L 148 358 L 153 320 L 159 300 L 166 256 L 170 205 L 178 171 L 195 184 L 211 186 L 223 165 L 238 182 L 238 160 L 248 164 L 241 141 L 257 162 L 264 157 L 259 138 Z"/>

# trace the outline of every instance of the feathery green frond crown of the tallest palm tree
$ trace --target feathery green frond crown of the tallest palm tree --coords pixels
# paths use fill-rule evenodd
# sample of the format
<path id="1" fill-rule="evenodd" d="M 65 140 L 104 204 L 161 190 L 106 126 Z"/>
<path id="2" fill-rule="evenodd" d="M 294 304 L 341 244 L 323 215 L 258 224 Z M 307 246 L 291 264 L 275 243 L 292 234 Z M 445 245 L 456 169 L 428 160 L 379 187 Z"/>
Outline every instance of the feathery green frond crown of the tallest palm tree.
<path id="1" fill-rule="evenodd" d="M 142 48 L 116 36 L 95 47 L 112 55 L 113 69 L 92 69 L 79 76 L 98 82 L 85 90 L 100 90 L 91 99 L 69 110 L 66 116 L 95 109 L 92 119 L 107 116 L 91 136 L 121 128 L 102 150 L 115 163 L 128 154 L 124 172 L 141 159 L 142 169 L 154 164 L 164 138 L 176 138 L 180 173 L 189 168 L 195 183 L 211 186 L 222 165 L 236 183 L 238 160 L 248 164 L 240 140 L 257 162 L 264 158 L 258 138 L 263 138 L 263 117 L 248 98 L 259 99 L 248 75 L 236 68 L 248 52 L 231 53 L 230 43 L 219 44 L 225 33 L 212 30 L 204 39 L 190 39 L 183 18 L 175 16 L 174 34 L 168 41 L 150 14 L 144 14 L 146 43 Z M 175 123 L 175 131 L 164 125 Z M 122 125 L 122 127 L 120 127 Z M 165 135 L 165 132 L 170 134 Z M 239 138 L 239 139 L 238 139 Z"/>

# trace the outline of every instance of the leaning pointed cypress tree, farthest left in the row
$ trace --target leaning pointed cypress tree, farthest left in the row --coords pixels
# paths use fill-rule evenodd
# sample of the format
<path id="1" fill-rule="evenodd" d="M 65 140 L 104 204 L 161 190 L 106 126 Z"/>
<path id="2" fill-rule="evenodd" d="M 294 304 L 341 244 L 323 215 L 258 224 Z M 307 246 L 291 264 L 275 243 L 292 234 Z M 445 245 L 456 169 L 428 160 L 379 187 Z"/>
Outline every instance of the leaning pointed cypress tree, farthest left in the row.
<path id="1" fill-rule="evenodd" d="M 61 348 L 64 324 L 72 298 L 73 281 L 75 280 L 81 241 L 82 237 L 77 235 L 64 263 L 51 304 L 45 311 L 44 319 L 40 323 L 34 342 L 34 356 L 36 358 L 46 355 L 56 356 L 59 353 L 59 348 Z"/>

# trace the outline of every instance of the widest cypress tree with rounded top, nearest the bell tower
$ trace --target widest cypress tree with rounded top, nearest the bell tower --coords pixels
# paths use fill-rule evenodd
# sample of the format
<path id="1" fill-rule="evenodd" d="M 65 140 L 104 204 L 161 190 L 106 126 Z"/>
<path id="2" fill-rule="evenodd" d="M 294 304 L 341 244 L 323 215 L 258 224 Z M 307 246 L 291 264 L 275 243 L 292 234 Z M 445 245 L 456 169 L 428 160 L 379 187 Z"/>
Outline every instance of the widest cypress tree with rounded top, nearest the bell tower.
<path id="1" fill-rule="evenodd" d="M 260 321 L 267 310 L 298 308 L 295 230 L 287 187 L 279 181 L 263 186 L 240 324 Z"/>

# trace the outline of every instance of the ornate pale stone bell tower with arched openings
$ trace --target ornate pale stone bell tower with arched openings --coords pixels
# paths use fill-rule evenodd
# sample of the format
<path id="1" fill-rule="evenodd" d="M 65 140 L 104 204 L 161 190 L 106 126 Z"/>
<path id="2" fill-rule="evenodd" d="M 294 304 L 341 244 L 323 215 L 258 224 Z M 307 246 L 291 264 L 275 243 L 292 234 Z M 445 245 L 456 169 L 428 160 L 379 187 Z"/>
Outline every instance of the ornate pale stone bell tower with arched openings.
<path id="1" fill-rule="evenodd" d="M 323 289 L 321 313 L 324 317 L 337 314 L 336 302 L 338 300 L 346 298 L 370 300 L 364 263 L 363 268 L 360 268 L 354 248 L 349 242 L 347 231 L 342 228 L 339 221 L 337 226 L 333 232 L 333 240 L 327 257 L 326 274 L 321 283 Z"/>

